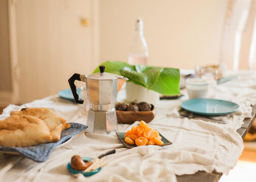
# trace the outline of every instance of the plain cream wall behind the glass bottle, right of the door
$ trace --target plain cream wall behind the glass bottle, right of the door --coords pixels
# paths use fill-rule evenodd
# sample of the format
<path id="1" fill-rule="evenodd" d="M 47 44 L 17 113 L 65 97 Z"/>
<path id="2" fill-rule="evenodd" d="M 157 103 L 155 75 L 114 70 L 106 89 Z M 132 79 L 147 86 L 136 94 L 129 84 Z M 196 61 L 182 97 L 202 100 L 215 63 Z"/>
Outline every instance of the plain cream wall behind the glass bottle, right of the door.
<path id="1" fill-rule="evenodd" d="M 127 61 L 137 17 L 144 19 L 149 65 L 218 64 L 228 0 L 101 0 L 100 61 Z"/>

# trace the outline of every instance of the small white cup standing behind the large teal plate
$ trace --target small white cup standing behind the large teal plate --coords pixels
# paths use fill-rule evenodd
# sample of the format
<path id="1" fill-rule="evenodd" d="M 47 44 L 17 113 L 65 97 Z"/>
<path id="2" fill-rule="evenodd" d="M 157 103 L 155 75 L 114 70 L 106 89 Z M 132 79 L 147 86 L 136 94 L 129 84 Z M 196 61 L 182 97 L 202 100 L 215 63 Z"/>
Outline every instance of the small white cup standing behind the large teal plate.
<path id="1" fill-rule="evenodd" d="M 187 78 L 186 89 L 190 99 L 206 98 L 209 90 L 209 81 L 202 78 Z"/>

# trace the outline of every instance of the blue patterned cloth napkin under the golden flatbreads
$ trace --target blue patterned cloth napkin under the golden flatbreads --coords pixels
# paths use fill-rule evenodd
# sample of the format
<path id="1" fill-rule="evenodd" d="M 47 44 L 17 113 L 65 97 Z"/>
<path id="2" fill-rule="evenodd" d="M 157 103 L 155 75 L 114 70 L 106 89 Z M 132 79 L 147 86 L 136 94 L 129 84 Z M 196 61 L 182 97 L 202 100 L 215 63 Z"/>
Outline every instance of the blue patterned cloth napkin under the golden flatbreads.
<path id="1" fill-rule="evenodd" d="M 80 133 L 88 126 L 79 123 L 70 123 L 70 128 L 61 132 L 60 140 L 55 143 L 40 144 L 31 147 L 0 147 L 0 151 L 18 152 L 36 162 L 45 162 L 53 149 L 58 145 L 68 141 L 72 136 Z"/>

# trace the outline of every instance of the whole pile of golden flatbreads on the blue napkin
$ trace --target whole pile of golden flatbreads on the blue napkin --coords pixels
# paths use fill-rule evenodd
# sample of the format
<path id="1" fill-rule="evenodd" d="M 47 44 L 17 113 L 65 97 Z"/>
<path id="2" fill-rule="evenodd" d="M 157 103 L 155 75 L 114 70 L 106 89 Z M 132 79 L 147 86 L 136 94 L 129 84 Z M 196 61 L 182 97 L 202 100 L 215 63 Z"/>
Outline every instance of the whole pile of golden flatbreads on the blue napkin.
<path id="1" fill-rule="evenodd" d="M 66 120 L 47 108 L 23 108 L 0 120 L 0 146 L 28 147 L 60 140 Z"/>

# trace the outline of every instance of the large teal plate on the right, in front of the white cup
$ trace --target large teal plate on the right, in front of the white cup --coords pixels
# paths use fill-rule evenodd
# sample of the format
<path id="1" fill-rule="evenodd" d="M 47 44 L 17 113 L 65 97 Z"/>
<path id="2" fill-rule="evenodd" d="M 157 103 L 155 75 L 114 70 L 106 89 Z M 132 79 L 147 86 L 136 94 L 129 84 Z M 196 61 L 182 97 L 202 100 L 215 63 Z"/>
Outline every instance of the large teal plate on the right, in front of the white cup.
<path id="1" fill-rule="evenodd" d="M 226 115 L 238 110 L 239 105 L 217 99 L 191 99 L 181 104 L 187 111 L 207 116 Z"/>

